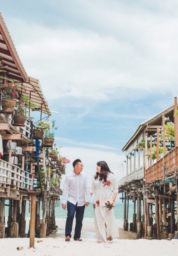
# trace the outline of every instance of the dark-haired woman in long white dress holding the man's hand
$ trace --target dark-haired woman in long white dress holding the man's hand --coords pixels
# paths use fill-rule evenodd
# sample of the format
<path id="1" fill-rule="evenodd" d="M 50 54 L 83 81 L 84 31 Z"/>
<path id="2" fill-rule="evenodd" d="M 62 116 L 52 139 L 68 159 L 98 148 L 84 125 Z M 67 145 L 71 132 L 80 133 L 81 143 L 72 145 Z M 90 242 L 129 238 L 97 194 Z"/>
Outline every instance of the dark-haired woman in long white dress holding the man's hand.
<path id="1" fill-rule="evenodd" d="M 93 208 L 97 243 L 107 243 L 107 241 L 119 237 L 113 208 L 109 210 L 105 207 L 105 202 L 108 200 L 114 204 L 118 194 L 118 185 L 114 174 L 109 170 L 105 161 L 97 163 L 90 192 L 91 196 L 94 193 Z"/>

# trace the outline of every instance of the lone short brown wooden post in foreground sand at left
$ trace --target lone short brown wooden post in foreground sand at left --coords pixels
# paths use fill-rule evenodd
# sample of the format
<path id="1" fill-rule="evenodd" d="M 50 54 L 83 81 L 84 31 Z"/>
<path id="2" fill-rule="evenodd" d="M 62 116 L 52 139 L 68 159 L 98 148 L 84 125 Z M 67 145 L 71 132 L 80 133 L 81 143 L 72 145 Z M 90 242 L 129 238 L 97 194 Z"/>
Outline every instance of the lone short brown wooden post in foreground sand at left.
<path id="1" fill-rule="evenodd" d="M 31 213 L 30 213 L 30 247 L 35 246 L 35 210 L 36 194 L 31 195 Z"/>

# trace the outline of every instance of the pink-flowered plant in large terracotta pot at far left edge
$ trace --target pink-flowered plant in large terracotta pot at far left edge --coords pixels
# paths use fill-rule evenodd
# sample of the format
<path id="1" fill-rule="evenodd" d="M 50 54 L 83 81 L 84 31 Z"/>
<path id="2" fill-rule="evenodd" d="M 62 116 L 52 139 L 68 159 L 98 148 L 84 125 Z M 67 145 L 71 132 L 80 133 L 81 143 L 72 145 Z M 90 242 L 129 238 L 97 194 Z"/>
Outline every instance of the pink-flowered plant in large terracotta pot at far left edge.
<path id="1" fill-rule="evenodd" d="M 2 67 L 1 67 L 2 68 Z M 0 73 L 2 70 L 0 69 Z M 0 94 L 2 113 L 12 114 L 16 104 L 17 84 L 13 80 L 0 75 Z"/>

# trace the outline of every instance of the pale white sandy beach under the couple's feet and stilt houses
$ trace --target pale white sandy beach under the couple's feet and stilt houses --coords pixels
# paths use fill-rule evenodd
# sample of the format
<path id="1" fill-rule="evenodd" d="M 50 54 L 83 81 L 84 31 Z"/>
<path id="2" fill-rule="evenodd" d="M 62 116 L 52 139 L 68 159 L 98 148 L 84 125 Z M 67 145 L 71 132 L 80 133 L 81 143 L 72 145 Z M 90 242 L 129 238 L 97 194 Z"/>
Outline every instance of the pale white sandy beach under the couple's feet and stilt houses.
<path id="1" fill-rule="evenodd" d="M 48 238 L 35 239 L 35 248 L 29 248 L 29 238 L 5 238 L 0 240 L 0 256 L 168 256 L 170 252 L 177 255 L 178 240 L 145 240 L 131 239 L 135 238 L 135 233 L 124 232 L 121 221 L 117 221 L 120 238 L 114 239 L 113 243 L 108 245 L 97 244 L 94 234 L 94 221 L 85 219 L 81 237 L 82 242 L 71 239 L 70 242 L 64 241 L 65 220 L 56 219 L 58 232 L 56 235 L 50 235 Z M 75 225 L 75 223 L 74 223 Z M 124 238 L 125 235 L 125 239 Z M 73 234 L 72 234 L 73 235 Z M 130 239 L 126 239 L 130 237 Z M 37 243 L 38 240 L 43 242 Z M 17 251 L 17 247 L 23 247 L 23 250 Z"/>

